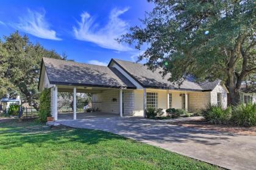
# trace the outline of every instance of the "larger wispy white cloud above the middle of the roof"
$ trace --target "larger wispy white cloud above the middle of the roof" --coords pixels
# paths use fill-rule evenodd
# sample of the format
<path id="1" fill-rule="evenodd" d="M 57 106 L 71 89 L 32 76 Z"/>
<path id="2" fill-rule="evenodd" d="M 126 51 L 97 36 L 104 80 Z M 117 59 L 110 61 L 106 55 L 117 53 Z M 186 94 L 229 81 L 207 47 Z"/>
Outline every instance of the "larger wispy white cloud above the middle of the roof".
<path id="1" fill-rule="evenodd" d="M 127 12 L 128 8 L 123 10 L 113 9 L 108 17 L 107 24 L 99 27 L 94 17 L 89 13 L 83 12 L 81 21 L 77 21 L 78 26 L 73 27 L 74 36 L 82 41 L 93 42 L 105 49 L 113 49 L 118 51 L 131 50 L 130 47 L 119 44 L 116 38 L 125 34 L 129 30 L 128 22 L 119 18 L 120 15 Z"/>

